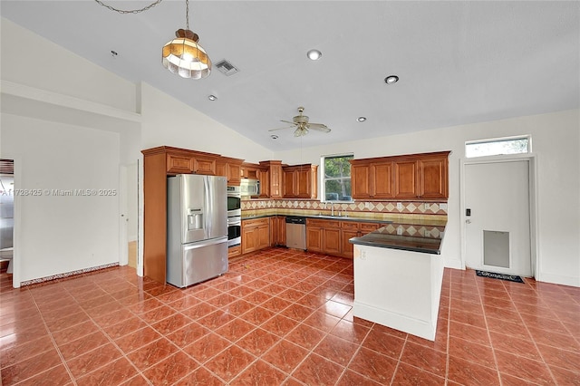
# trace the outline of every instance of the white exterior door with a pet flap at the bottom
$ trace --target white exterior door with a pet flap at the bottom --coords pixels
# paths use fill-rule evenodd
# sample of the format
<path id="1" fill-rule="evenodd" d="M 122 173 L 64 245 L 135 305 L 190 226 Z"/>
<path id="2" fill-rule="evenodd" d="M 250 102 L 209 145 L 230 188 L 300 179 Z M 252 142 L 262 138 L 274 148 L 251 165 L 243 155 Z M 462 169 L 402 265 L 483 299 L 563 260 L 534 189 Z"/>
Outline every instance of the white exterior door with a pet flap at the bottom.
<path id="1" fill-rule="evenodd" d="M 465 265 L 532 275 L 529 160 L 465 164 Z"/>

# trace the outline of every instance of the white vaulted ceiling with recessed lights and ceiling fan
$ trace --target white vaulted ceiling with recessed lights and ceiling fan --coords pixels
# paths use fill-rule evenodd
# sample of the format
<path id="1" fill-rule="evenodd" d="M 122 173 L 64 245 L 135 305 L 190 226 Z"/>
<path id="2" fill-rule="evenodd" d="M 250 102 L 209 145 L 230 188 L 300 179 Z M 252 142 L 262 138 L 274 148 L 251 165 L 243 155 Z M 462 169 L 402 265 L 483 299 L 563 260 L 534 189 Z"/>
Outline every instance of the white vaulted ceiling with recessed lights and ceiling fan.
<path id="1" fill-rule="evenodd" d="M 103 0 L 122 9 L 152 1 Z M 268 131 L 285 127 L 280 120 L 291 121 L 298 106 L 332 129 L 311 130 L 307 147 L 580 105 L 575 1 L 191 0 L 199 43 L 213 63 L 227 59 L 239 69 L 226 76 L 214 68 L 198 81 L 161 65 L 161 47 L 185 27 L 185 0 L 140 14 L 92 0 L 3 0 L 0 13 L 273 151 L 301 146 L 292 129 L 276 131 L 277 140 Z M 317 62 L 306 58 L 312 48 L 323 53 Z M 391 74 L 401 80 L 387 85 Z"/>

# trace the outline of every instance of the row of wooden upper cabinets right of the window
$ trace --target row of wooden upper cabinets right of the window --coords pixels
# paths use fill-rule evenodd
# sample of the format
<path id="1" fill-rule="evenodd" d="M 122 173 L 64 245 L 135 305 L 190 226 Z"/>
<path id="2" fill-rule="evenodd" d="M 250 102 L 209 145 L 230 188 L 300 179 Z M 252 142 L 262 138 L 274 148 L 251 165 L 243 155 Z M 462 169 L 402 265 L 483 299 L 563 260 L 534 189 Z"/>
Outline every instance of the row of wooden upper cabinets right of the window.
<path id="1" fill-rule="evenodd" d="M 354 199 L 448 198 L 449 151 L 351 159 Z"/>

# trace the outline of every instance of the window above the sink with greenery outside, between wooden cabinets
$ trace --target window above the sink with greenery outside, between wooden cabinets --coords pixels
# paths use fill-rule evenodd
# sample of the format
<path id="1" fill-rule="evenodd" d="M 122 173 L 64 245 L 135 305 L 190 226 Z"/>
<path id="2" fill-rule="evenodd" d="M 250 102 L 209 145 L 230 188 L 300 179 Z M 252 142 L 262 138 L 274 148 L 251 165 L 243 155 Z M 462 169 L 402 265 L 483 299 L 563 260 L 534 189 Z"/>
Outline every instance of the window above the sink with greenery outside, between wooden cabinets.
<path id="1" fill-rule="evenodd" d="M 323 201 L 352 201 L 351 196 L 351 164 L 353 154 L 323 156 L 322 165 L 322 195 Z"/>

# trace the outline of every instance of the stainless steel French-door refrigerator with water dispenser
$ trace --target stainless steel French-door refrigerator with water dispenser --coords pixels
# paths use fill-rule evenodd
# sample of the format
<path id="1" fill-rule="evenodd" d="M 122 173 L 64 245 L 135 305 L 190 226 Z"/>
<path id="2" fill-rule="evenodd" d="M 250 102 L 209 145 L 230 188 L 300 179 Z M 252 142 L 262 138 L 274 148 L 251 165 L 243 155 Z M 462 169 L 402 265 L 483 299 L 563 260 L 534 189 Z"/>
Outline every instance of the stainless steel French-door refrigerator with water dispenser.
<path id="1" fill-rule="evenodd" d="M 227 272 L 227 179 L 168 178 L 167 282 L 180 288 Z"/>

